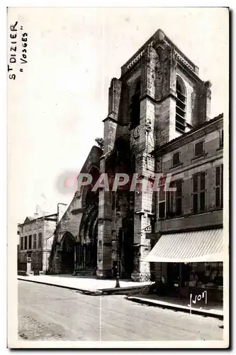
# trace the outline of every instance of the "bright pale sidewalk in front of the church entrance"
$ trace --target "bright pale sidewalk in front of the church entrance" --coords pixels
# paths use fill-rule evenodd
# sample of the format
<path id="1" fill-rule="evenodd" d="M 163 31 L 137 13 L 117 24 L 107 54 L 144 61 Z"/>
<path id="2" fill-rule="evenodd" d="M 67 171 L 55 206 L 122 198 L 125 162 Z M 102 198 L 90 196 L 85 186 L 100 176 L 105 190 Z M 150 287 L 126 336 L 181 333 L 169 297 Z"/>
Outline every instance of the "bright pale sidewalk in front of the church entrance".
<path id="1" fill-rule="evenodd" d="M 57 286 L 60 288 L 69 288 L 70 290 L 79 290 L 93 295 L 122 294 L 128 293 L 128 290 L 137 289 L 139 292 L 150 282 L 135 283 L 130 280 L 120 280 L 120 288 L 115 288 L 116 279 L 99 280 L 96 276 L 73 276 L 73 275 L 39 275 L 39 276 L 20 276 L 18 280 L 24 280 L 32 283 L 43 283 L 45 285 Z"/>

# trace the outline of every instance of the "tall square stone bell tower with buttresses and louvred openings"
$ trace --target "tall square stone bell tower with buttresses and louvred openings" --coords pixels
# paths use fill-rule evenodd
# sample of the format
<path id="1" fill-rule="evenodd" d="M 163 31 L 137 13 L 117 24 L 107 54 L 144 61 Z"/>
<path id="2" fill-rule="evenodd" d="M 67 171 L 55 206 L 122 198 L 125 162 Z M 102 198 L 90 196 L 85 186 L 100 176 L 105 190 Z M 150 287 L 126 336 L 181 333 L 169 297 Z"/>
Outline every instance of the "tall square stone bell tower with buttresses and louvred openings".
<path id="1" fill-rule="evenodd" d="M 116 211 L 113 194 L 100 190 L 99 277 L 112 273 L 116 255 L 125 265 L 120 249 L 126 248 L 133 262 L 126 266 L 130 277 L 150 279 L 150 263 L 144 259 L 150 251 L 145 234 L 153 228 L 155 215 L 155 194 L 147 183 L 156 173 L 151 152 L 208 120 L 209 114 L 210 82 L 200 80 L 198 67 L 161 30 L 125 62 L 120 78 L 111 80 L 100 172 L 114 174 L 122 167 L 130 177 L 137 174 L 139 183 L 134 192 L 119 193 Z M 118 246 L 120 230 L 127 233 Z"/>

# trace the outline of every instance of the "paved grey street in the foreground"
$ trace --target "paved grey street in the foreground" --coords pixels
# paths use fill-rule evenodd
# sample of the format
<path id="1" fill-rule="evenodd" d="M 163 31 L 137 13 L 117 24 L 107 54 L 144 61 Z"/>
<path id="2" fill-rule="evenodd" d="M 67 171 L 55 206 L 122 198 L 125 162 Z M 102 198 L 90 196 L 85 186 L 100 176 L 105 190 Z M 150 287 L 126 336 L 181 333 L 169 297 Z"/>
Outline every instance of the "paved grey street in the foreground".
<path id="1" fill-rule="evenodd" d="M 18 331 L 28 340 L 222 340 L 223 321 L 18 280 Z"/>

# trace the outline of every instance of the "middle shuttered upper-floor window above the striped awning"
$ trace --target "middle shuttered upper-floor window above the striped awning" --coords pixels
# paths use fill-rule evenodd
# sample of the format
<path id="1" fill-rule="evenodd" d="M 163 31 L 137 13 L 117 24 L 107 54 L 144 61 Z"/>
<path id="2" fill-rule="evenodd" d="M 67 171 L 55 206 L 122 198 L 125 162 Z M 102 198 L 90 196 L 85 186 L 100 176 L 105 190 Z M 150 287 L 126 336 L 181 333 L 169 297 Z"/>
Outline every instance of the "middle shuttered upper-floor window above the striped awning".
<path id="1" fill-rule="evenodd" d="M 193 213 L 202 212 L 206 209 L 206 173 L 193 175 Z"/>

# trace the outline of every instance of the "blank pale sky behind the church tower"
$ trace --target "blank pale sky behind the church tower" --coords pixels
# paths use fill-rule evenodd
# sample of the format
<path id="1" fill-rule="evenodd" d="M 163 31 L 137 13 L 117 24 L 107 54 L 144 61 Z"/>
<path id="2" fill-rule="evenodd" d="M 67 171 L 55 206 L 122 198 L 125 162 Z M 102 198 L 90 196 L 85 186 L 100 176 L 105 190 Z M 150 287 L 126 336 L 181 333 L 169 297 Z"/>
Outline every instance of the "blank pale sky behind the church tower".
<path id="1" fill-rule="evenodd" d="M 15 21 L 16 80 L 8 80 L 7 108 L 10 223 L 33 216 L 37 204 L 56 212 L 58 202 L 71 202 L 74 186 L 63 189 L 62 181 L 72 182 L 103 136 L 111 79 L 158 28 L 212 82 L 211 118 L 228 111 L 227 9 L 11 8 L 8 23 Z"/>

